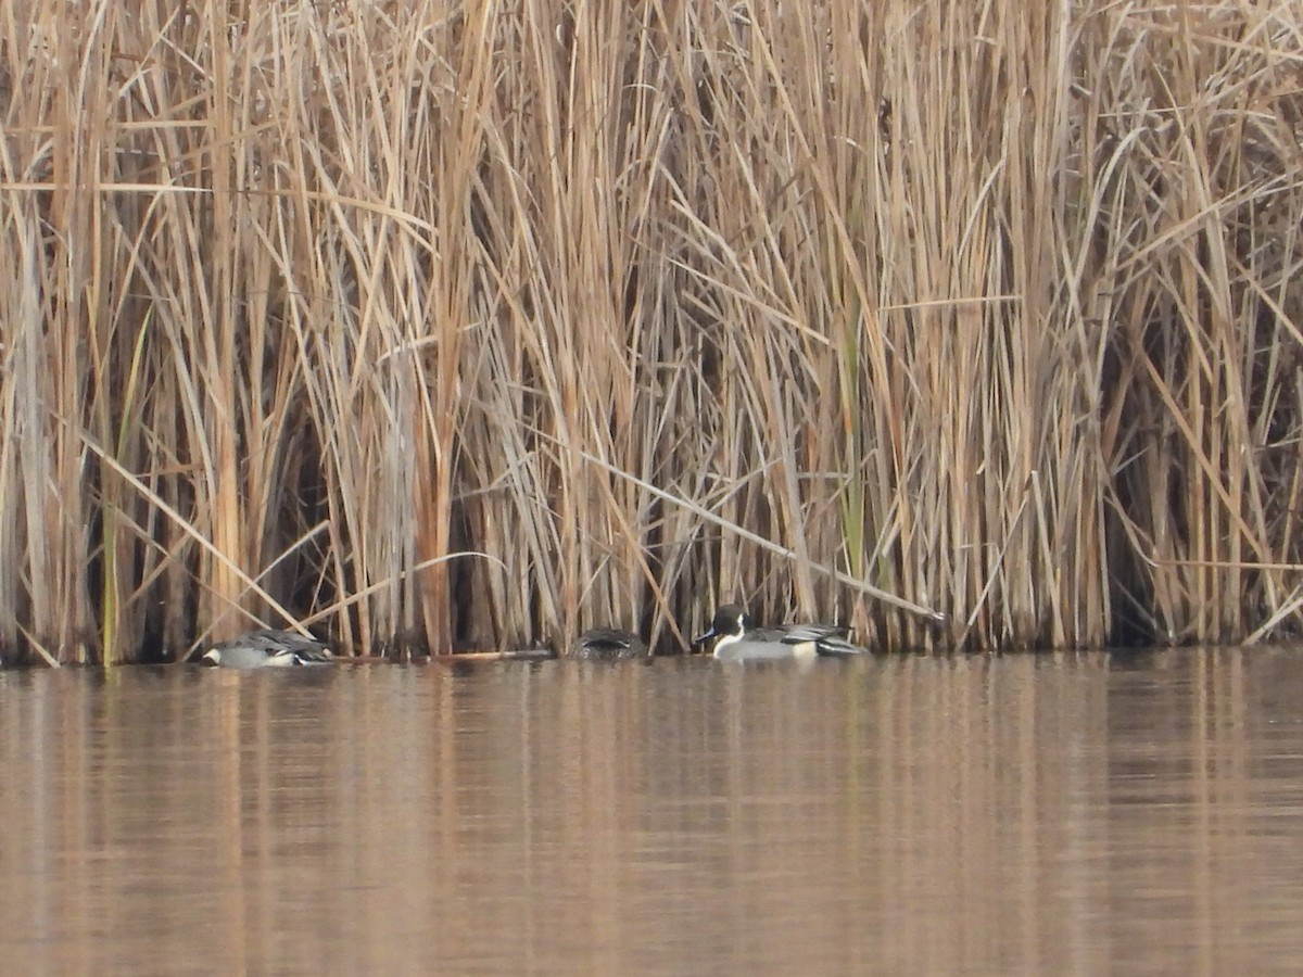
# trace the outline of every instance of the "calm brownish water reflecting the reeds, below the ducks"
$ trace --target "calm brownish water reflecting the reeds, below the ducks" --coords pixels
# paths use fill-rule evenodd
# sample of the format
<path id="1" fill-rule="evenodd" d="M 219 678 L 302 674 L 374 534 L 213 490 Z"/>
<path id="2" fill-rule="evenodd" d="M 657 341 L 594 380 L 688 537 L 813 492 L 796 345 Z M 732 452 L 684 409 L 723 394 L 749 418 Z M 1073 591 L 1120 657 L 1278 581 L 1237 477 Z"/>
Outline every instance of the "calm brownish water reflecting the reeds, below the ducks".
<path id="1" fill-rule="evenodd" d="M 0 673 L 0 969 L 1298 973 L 1303 650 Z"/>

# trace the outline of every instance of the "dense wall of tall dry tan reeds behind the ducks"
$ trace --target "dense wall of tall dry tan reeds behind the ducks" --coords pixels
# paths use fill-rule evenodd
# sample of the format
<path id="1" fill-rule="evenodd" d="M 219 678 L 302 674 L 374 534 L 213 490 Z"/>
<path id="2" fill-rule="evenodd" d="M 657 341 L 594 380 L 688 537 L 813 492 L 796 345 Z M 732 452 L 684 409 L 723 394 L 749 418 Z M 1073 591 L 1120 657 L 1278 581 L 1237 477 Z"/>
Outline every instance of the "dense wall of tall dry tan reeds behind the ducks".
<path id="1" fill-rule="evenodd" d="M 1300 142 L 1298 4 L 7 4 L 0 657 L 1296 634 Z"/>

